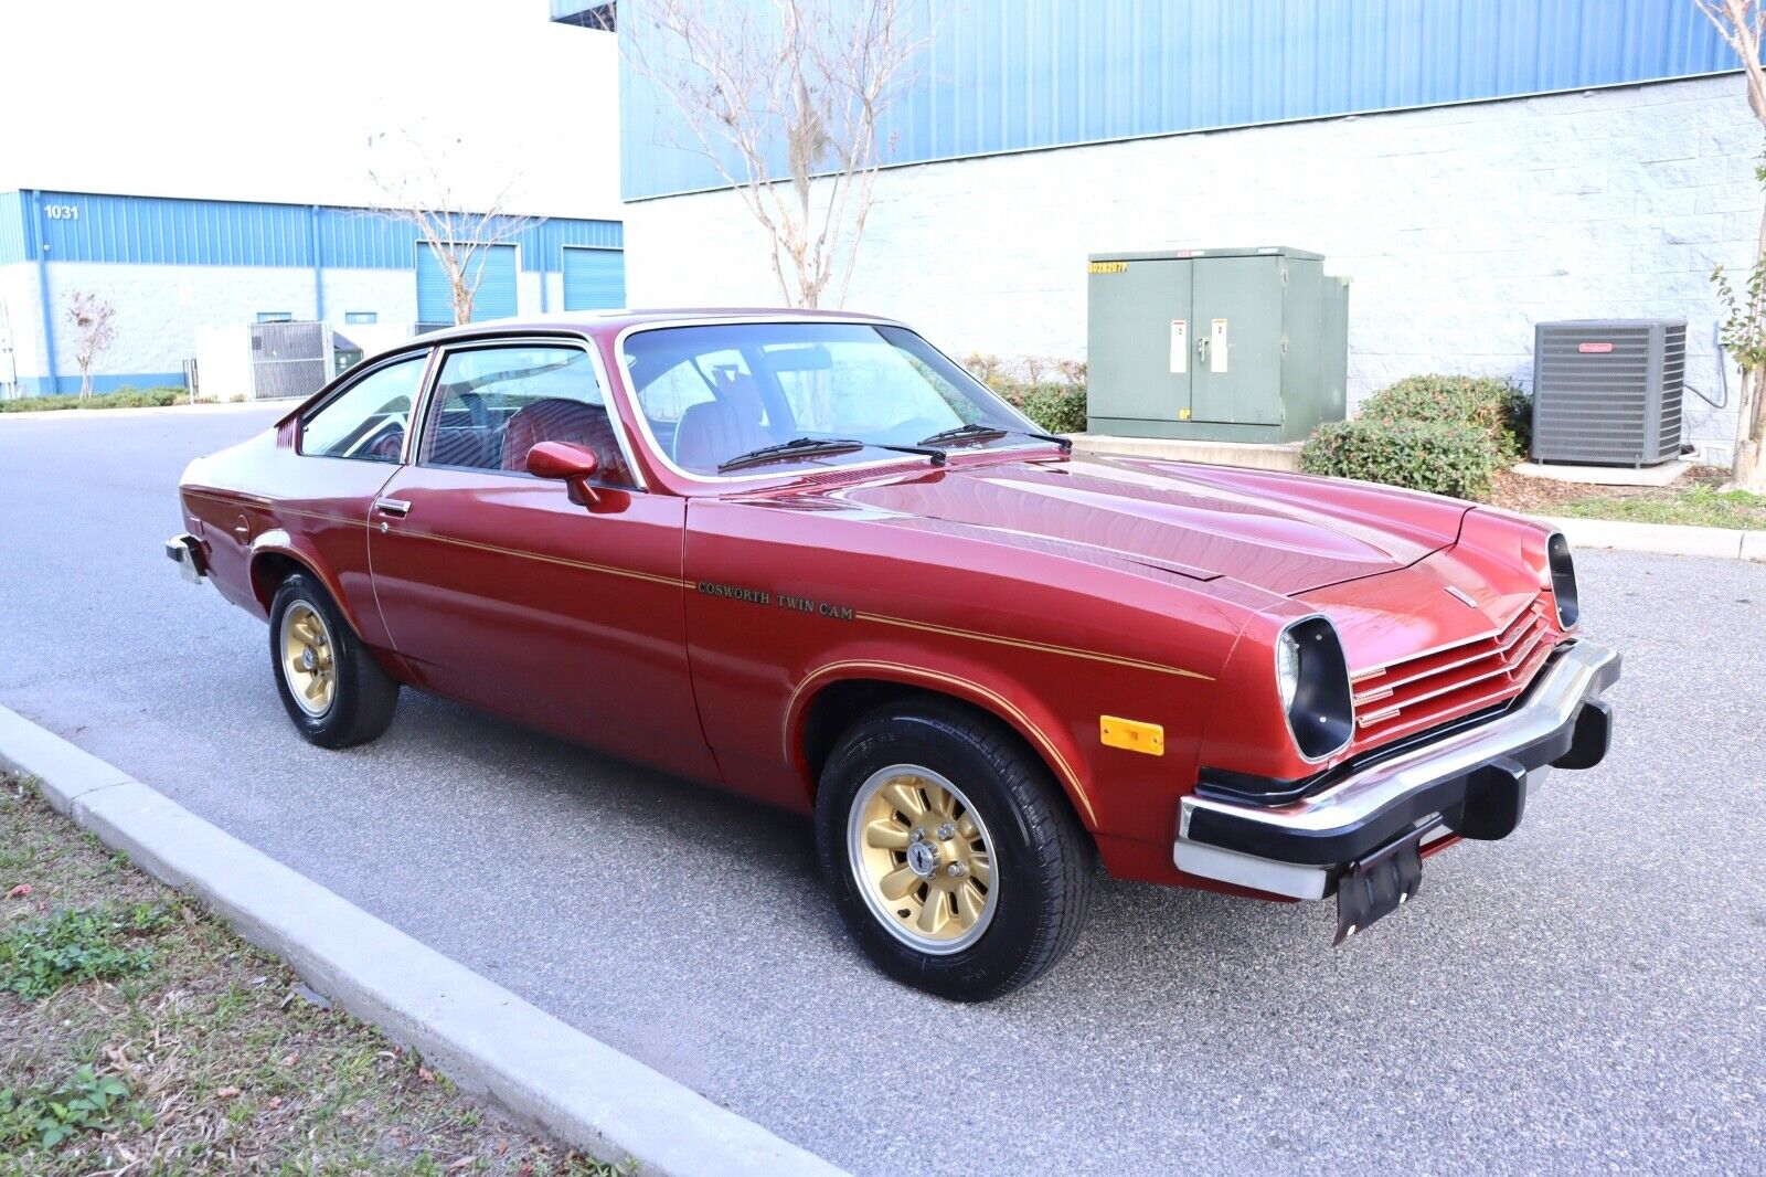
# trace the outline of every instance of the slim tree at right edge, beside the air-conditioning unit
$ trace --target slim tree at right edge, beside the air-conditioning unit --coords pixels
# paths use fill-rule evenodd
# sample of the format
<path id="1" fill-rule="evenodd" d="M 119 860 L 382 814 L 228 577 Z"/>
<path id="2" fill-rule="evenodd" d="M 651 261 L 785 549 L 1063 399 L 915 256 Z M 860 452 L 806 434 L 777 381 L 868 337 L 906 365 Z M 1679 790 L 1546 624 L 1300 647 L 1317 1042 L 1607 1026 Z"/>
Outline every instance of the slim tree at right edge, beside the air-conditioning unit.
<path id="1" fill-rule="evenodd" d="M 1741 58 L 1748 80 L 1748 106 L 1766 127 L 1766 67 L 1761 65 L 1761 34 L 1766 9 L 1761 0 L 1692 0 L 1717 27 L 1729 48 Z M 1754 170 L 1766 184 L 1766 161 Z M 1724 267 L 1711 274 L 1729 318 L 1724 322 L 1724 346 L 1741 369 L 1741 401 L 1736 414 L 1736 490 L 1766 495 L 1766 210 L 1754 247 L 1754 267 L 1747 290 L 1738 300 Z"/>

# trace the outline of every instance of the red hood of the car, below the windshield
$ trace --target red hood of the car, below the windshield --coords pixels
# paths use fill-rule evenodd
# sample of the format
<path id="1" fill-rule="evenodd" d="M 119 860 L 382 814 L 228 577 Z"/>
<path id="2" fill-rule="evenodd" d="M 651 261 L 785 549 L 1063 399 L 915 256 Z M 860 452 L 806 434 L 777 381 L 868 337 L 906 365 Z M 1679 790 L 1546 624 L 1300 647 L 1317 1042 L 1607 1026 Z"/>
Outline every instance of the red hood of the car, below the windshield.
<path id="1" fill-rule="evenodd" d="M 1266 470 L 1074 456 L 954 465 L 834 497 L 996 543 L 1291 596 L 1408 567 L 1453 543 L 1469 504 Z"/>

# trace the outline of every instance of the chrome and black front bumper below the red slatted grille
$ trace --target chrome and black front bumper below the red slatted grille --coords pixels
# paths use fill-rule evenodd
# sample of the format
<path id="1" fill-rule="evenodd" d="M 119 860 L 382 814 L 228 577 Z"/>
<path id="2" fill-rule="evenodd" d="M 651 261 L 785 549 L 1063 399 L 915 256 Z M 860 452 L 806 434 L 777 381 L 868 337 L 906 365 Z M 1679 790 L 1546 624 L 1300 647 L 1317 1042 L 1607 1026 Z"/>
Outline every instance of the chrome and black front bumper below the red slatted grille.
<path id="1" fill-rule="evenodd" d="M 1575 642 L 1499 716 L 1376 760 L 1310 797 L 1279 806 L 1185 797 L 1173 857 L 1190 875 L 1321 900 L 1344 869 L 1432 818 L 1466 838 L 1503 838 L 1540 769 L 1591 769 L 1607 755 L 1612 710 L 1600 693 L 1618 677 L 1616 650 Z"/>

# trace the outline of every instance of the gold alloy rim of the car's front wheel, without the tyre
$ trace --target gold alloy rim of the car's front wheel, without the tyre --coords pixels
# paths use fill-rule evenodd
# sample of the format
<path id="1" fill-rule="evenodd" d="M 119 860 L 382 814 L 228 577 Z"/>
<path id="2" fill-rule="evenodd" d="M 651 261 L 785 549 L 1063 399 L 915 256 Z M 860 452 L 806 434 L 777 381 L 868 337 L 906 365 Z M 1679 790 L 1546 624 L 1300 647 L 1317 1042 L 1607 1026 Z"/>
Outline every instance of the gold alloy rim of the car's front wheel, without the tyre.
<path id="1" fill-rule="evenodd" d="M 871 914 L 922 953 L 970 947 L 1000 905 L 987 825 L 962 790 L 931 769 L 872 772 L 853 797 L 846 847 Z"/>

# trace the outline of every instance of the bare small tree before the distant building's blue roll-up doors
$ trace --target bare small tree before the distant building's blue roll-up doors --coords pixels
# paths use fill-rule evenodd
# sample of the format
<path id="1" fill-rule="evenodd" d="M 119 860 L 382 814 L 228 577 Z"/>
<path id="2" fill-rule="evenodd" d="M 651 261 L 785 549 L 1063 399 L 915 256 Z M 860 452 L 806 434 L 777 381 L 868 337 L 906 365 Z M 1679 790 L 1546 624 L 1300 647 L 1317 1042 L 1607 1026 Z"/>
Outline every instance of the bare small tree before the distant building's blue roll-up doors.
<path id="1" fill-rule="evenodd" d="M 450 147 L 459 143 L 461 140 L 454 140 Z M 383 133 L 369 138 L 371 152 L 385 154 L 387 145 Z M 454 322 L 468 323 L 491 247 L 510 244 L 544 223 L 544 217 L 509 212 L 509 194 L 516 180 L 505 184 L 487 207 L 466 209 L 466 201 L 456 194 L 454 184 L 447 180 L 445 170 L 427 147 L 410 134 L 403 134 L 397 147 L 404 148 L 404 159 L 369 168 L 369 178 L 387 198 L 387 203 L 374 212 L 397 217 L 417 230 L 419 242 L 434 254 L 447 277 Z"/>

